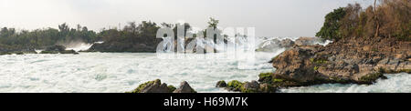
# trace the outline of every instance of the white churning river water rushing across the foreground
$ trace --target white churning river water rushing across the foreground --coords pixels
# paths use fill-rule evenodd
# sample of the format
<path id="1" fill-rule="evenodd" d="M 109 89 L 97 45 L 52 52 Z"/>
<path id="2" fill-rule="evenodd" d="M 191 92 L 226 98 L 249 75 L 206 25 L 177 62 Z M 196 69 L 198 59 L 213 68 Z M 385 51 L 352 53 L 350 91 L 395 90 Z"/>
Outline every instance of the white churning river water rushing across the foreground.
<path id="1" fill-rule="evenodd" d="M 293 39 L 295 40 L 295 38 Z M 79 55 L 0 55 L 0 92 L 113 92 L 131 91 L 161 79 L 179 86 L 187 81 L 197 92 L 227 92 L 219 80 L 258 80 L 275 69 L 267 63 L 275 52 L 257 52 L 251 62 L 237 59 L 160 59 L 154 53 L 80 53 Z M 201 54 L 188 54 L 195 56 Z M 206 54 L 219 57 L 221 54 Z M 243 55 L 244 56 L 244 55 Z M 281 89 L 280 92 L 411 92 L 411 75 L 386 75 L 371 86 L 326 84 Z"/>

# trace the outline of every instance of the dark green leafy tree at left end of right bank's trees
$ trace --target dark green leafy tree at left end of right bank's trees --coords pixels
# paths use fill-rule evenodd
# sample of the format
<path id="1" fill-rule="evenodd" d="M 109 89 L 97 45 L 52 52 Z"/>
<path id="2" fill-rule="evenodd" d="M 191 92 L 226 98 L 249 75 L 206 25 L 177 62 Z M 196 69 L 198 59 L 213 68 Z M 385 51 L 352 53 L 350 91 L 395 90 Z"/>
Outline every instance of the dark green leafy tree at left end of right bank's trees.
<path id="1" fill-rule="evenodd" d="M 316 34 L 323 39 L 340 39 L 342 36 L 339 32 L 341 23 L 339 22 L 346 15 L 344 8 L 340 7 L 334 9 L 333 12 L 325 15 L 324 25 L 321 27 L 320 32 Z"/>

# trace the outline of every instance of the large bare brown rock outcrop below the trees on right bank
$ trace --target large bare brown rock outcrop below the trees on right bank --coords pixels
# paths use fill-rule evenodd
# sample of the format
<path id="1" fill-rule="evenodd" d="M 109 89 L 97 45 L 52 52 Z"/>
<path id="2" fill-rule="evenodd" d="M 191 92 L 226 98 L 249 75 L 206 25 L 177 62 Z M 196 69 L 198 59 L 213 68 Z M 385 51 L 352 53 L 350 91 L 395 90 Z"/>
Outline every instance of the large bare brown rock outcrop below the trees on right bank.
<path id="1" fill-rule="evenodd" d="M 394 38 L 344 38 L 327 46 L 294 46 L 273 58 L 274 78 L 292 86 L 372 84 L 382 73 L 408 72 L 411 43 Z M 260 78 L 262 79 L 262 78 Z"/>

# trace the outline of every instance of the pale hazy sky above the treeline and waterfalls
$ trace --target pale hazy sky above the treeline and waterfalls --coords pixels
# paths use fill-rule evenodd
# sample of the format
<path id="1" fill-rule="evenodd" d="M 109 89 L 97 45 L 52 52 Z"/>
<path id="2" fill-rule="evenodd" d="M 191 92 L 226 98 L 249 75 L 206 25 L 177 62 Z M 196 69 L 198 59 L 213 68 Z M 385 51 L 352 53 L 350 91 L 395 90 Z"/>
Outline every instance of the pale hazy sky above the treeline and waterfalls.
<path id="1" fill-rule="evenodd" d="M 373 0 L 0 0 L 0 27 L 33 30 L 68 23 L 100 31 L 127 22 L 187 22 L 255 27 L 258 36 L 314 36 L 324 16 L 339 6 Z"/>

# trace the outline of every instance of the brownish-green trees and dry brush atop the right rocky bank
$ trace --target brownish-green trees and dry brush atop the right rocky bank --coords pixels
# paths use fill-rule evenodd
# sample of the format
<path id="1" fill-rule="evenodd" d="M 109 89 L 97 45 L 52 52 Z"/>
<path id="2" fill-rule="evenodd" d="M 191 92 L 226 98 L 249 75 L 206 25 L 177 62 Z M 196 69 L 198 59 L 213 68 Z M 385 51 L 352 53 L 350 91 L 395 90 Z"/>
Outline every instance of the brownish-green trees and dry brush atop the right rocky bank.
<path id="1" fill-rule="evenodd" d="M 334 9 L 325 16 L 316 36 L 339 40 L 343 37 L 395 37 L 411 40 L 411 2 L 379 0 L 380 4 L 363 9 L 359 4 Z"/>

